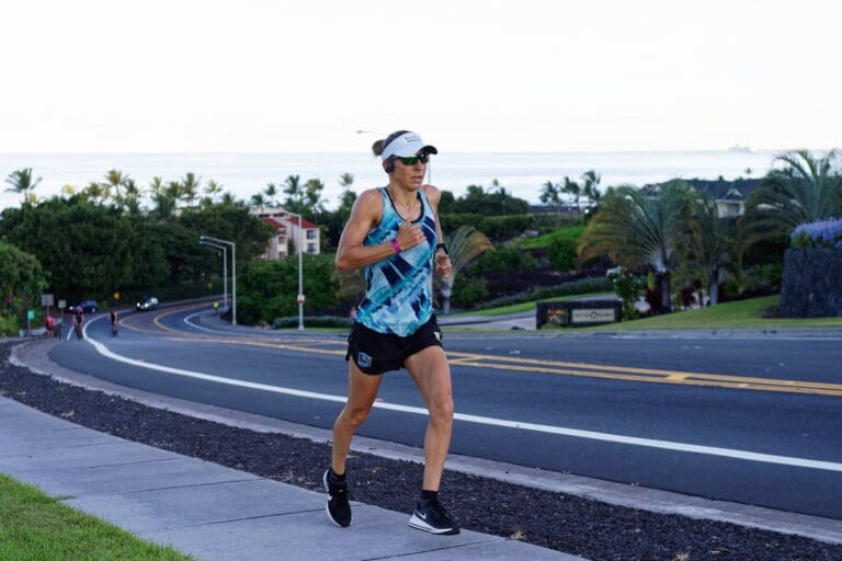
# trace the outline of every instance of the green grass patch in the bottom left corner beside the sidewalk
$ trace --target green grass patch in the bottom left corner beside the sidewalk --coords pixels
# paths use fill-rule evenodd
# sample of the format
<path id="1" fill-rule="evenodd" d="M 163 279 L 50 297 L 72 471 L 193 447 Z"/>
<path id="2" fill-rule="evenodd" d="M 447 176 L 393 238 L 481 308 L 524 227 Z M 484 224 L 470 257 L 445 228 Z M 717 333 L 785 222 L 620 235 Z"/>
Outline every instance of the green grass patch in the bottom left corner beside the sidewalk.
<path id="1" fill-rule="evenodd" d="M 186 561 L 193 558 L 144 541 L 0 474 L 0 559 Z"/>

